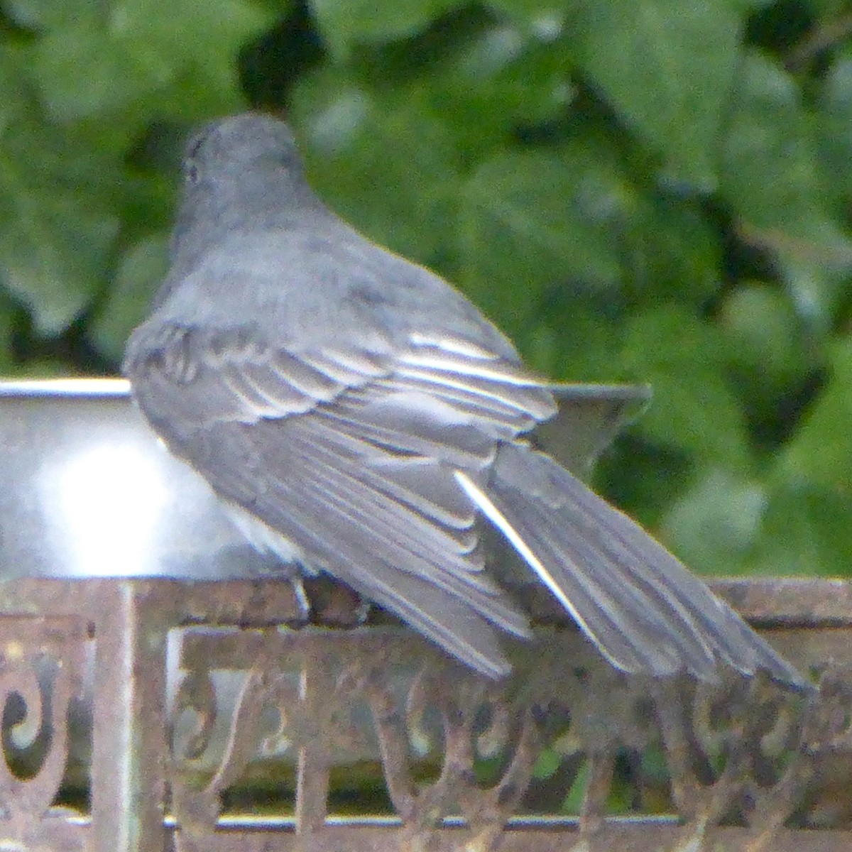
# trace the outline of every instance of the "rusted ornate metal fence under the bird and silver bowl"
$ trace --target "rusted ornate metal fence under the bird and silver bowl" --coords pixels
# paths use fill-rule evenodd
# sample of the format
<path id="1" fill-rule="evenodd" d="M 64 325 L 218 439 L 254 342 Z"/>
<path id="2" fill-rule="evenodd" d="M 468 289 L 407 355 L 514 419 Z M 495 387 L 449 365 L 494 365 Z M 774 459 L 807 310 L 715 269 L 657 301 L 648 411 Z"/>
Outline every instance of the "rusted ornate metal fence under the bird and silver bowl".
<path id="1" fill-rule="evenodd" d="M 815 699 L 621 676 L 544 597 L 495 684 L 400 627 L 280 630 L 286 584 L 7 581 L 0 849 L 852 849 L 852 584 L 716 588 Z M 264 758 L 290 775 L 237 807 Z M 389 809 L 335 813 L 364 766 Z"/>

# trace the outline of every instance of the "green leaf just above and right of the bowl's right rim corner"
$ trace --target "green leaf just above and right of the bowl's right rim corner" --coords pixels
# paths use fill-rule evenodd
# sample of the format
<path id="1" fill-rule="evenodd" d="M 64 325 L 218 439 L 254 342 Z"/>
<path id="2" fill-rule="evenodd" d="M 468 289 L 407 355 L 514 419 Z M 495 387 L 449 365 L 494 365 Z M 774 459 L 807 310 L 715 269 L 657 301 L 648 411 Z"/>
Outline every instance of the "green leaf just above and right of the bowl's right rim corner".
<path id="1" fill-rule="evenodd" d="M 631 316 L 624 334 L 623 368 L 653 388 L 639 431 L 702 463 L 748 469 L 745 424 L 725 377 L 717 329 L 685 308 L 668 306 Z"/>

